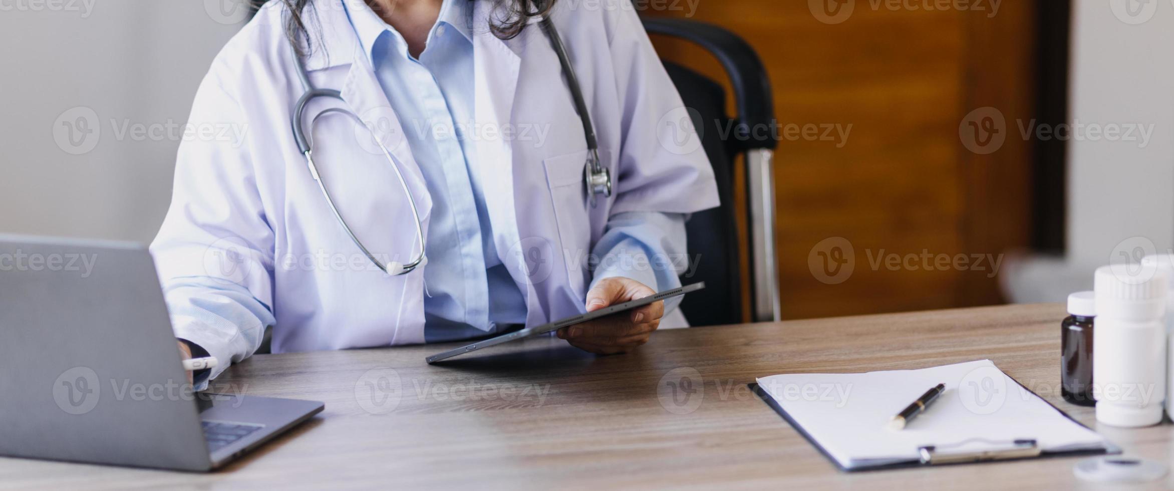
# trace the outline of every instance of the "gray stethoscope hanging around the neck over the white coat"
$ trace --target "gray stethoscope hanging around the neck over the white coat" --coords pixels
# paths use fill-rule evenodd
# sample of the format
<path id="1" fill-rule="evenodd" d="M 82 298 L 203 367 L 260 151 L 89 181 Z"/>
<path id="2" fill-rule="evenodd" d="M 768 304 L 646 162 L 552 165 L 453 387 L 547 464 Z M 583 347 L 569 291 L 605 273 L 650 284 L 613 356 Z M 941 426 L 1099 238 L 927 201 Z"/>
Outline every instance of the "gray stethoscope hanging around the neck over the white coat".
<path id="1" fill-rule="evenodd" d="M 579 113 L 579 119 L 583 125 L 583 134 L 587 139 L 587 162 L 583 167 L 583 181 L 587 186 L 591 206 L 594 208 L 598 195 L 602 194 L 605 197 L 612 196 L 612 174 L 599 160 L 599 144 L 595 141 L 595 127 L 592 125 L 591 113 L 587 110 L 587 103 L 583 101 L 582 88 L 579 86 L 579 79 L 575 76 L 574 67 L 571 66 L 571 56 L 567 55 L 567 48 L 562 45 L 562 38 L 559 36 L 559 32 L 555 31 L 554 23 L 551 22 L 549 18 L 544 18 L 539 25 L 546 36 L 551 40 L 551 46 L 554 48 L 554 52 L 559 55 L 559 63 L 562 66 L 562 75 L 567 79 L 567 86 L 571 88 L 571 96 L 575 102 L 575 110 Z M 297 103 L 294 106 L 294 116 L 291 120 L 294 141 L 297 142 L 297 148 L 302 155 L 305 156 L 305 164 L 310 169 L 310 176 L 318 183 L 318 189 L 322 190 L 322 196 L 326 199 L 326 204 L 335 214 L 335 218 L 338 220 L 338 224 L 343 227 L 343 230 L 351 237 L 355 246 L 357 246 L 359 250 L 366 255 L 367 260 L 389 275 L 406 275 L 416 270 L 416 268 L 427 264 L 429 258 L 424 255 L 424 229 L 420 224 L 420 211 L 416 207 L 416 199 L 412 196 L 412 191 L 407 188 L 407 181 L 404 180 L 404 174 L 399 170 L 399 162 L 391 154 L 391 152 L 387 150 L 387 147 L 384 146 L 378 137 L 375 137 L 375 130 L 366 126 L 366 123 L 364 123 L 357 114 L 345 108 L 333 107 L 324 109 L 310 120 L 309 135 L 313 135 L 313 127 L 317 125 L 318 119 L 330 113 L 339 113 L 350 116 L 359 126 L 363 126 L 371 132 L 372 140 L 375 140 L 376 144 L 379 146 L 384 157 L 386 157 L 387 162 L 391 163 L 391 168 L 396 170 L 396 177 L 399 179 L 399 186 L 404 189 L 404 195 L 407 196 L 407 202 L 412 206 L 412 217 L 416 220 L 416 238 L 420 244 L 420 251 L 414 255 L 410 262 L 403 263 L 399 261 L 390 261 L 384 264 L 379 262 L 379 260 L 376 258 L 365 246 L 363 246 L 363 241 L 360 241 L 359 237 L 355 235 L 355 231 L 351 230 L 351 227 L 346 224 L 346 218 L 343 218 L 343 214 L 338 211 L 335 200 L 330 196 L 330 190 L 326 189 L 326 184 L 323 183 L 322 176 L 318 174 L 318 167 L 313 163 L 313 142 L 306 136 L 306 133 L 303 132 L 302 128 L 302 114 L 305 112 L 305 106 L 310 103 L 310 101 L 317 97 L 335 99 L 344 105 L 346 101 L 343 100 L 343 94 L 338 90 L 315 88 L 313 85 L 310 83 L 310 75 L 305 69 L 305 63 L 302 61 L 302 58 L 297 55 L 292 43 L 290 45 L 290 52 L 294 54 L 294 63 L 297 67 L 298 79 L 302 81 L 302 89 L 304 90 L 302 96 L 298 97 Z"/>

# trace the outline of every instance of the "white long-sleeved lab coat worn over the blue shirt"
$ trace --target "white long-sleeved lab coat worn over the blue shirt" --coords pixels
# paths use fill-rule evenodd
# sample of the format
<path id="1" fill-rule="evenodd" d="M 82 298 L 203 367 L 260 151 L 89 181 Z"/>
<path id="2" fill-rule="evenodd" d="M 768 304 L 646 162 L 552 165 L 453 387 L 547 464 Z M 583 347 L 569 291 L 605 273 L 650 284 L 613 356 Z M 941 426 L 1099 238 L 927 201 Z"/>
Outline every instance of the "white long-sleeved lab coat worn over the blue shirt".
<path id="1" fill-rule="evenodd" d="M 390 108 L 340 1 L 316 1 L 310 79 L 340 90 L 349 109 L 391 149 L 426 234 L 432 200 L 403 141 L 405 122 Z M 151 247 L 161 281 L 166 287 L 215 277 L 243 285 L 276 318 L 275 351 L 421 343 L 423 270 L 392 277 L 369 264 L 294 142 L 290 112 L 303 90 L 279 4 L 266 4 L 224 47 L 196 95 L 189 121 L 211 130 L 180 148 L 171 208 Z M 494 36 L 486 28 L 491 9 L 490 1 L 475 2 L 480 136 L 471 170 L 486 183 L 491 222 L 511 224 L 494 226 L 493 241 L 526 297 L 527 325 L 535 325 L 585 310 L 591 271 L 582 258 L 609 216 L 697 211 L 717 206 L 717 190 L 704 150 L 690 140 L 697 136 L 682 136 L 681 99 L 627 0 L 564 0 L 553 21 L 571 52 L 615 188 L 598 207 L 586 206 L 586 142 L 559 60 L 537 25 L 512 40 Z M 311 105 L 308 119 L 328 106 Z M 515 136 L 502 136 L 511 128 Z M 547 132 L 541 144 L 539 129 Z M 232 132 L 244 137 L 223 137 Z M 370 136 L 353 120 L 328 115 L 316 128 L 313 149 L 363 242 L 399 261 L 414 255 L 411 210 Z M 198 320 L 173 323 L 177 335 L 197 343 L 231 345 L 239 337 L 200 334 Z M 236 342 L 230 352 L 214 355 L 239 359 L 251 349 Z"/>

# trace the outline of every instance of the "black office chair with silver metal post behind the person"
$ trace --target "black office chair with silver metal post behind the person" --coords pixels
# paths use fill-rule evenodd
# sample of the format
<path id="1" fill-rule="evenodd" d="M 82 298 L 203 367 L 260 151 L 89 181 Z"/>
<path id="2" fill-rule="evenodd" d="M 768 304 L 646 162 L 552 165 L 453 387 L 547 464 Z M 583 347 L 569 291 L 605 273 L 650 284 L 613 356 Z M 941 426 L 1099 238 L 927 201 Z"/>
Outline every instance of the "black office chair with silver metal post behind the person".
<path id="1" fill-rule="evenodd" d="M 687 224 L 690 268 L 683 284 L 706 282 L 689 294 L 681 310 L 693 325 L 742 323 L 740 248 L 734 221 L 734 161 L 744 154 L 747 209 L 750 228 L 750 295 L 753 321 L 781 320 L 778 269 L 775 265 L 775 180 L 772 156 L 777 142 L 770 128 L 775 105 L 770 81 L 757 53 L 738 35 L 689 19 L 645 18 L 649 34 L 680 38 L 700 45 L 726 68 L 734 88 L 737 115 L 728 116 L 726 90 L 709 78 L 672 61 L 663 61 L 689 110 L 701 143 L 714 167 L 720 208 L 693 214 Z M 733 121 L 733 126 L 730 126 Z M 729 132 L 729 128 L 734 128 Z M 729 132 L 722 139 L 722 132 Z"/>

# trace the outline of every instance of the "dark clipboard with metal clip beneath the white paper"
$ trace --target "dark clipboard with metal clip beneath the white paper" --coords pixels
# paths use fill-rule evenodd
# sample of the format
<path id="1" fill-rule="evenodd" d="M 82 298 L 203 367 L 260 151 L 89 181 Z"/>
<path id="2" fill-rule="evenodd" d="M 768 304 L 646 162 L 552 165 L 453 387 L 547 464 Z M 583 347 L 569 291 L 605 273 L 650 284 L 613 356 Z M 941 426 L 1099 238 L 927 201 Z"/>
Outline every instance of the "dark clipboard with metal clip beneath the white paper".
<path id="1" fill-rule="evenodd" d="M 992 364 L 993 366 L 993 364 Z M 1005 375 L 1005 374 L 1004 374 Z M 1059 408 L 1048 403 L 1046 399 L 1039 397 L 1035 392 L 1027 389 L 1025 385 L 1016 381 L 1013 377 L 1007 376 L 1008 379 L 1013 381 L 1021 390 L 1026 394 L 1039 398 L 1059 415 L 1062 415 L 1067 421 L 1075 423 L 1080 428 L 1088 429 L 1088 426 L 1073 419 L 1066 412 L 1061 411 Z M 811 435 L 808 429 L 805 429 L 799 422 L 787 410 L 782 408 L 762 386 L 757 383 L 749 384 L 750 390 L 758 396 L 767 405 L 775 410 L 778 416 L 781 416 L 791 428 L 795 429 L 799 435 L 803 436 L 816 450 L 819 451 L 824 457 L 831 460 L 832 465 L 843 472 L 859 472 L 859 471 L 872 471 L 872 470 L 886 470 L 886 469 L 909 469 L 919 466 L 936 466 L 936 465 L 958 465 L 958 464 L 973 464 L 973 463 L 991 463 L 991 462 L 1005 462 L 1005 460 L 1021 460 L 1028 458 L 1055 458 L 1055 457 L 1075 457 L 1075 456 L 1089 456 L 1089 455 L 1115 455 L 1121 453 L 1121 449 L 1102 439 L 1102 445 L 1092 449 L 1078 449 L 1078 450 L 1046 450 L 1043 448 L 1040 442 L 1031 436 L 1025 435 L 1023 438 L 1012 439 L 985 439 L 985 438 L 973 438 L 972 440 L 952 442 L 944 444 L 930 444 L 926 443 L 920 445 L 918 450 L 918 457 L 916 458 L 888 458 L 888 459 L 876 459 L 876 460 L 861 460 L 852 462 L 851 465 L 843 465 L 823 444 L 819 443 L 818 438 Z M 969 444 L 979 443 L 983 445 L 980 450 L 967 450 Z"/>

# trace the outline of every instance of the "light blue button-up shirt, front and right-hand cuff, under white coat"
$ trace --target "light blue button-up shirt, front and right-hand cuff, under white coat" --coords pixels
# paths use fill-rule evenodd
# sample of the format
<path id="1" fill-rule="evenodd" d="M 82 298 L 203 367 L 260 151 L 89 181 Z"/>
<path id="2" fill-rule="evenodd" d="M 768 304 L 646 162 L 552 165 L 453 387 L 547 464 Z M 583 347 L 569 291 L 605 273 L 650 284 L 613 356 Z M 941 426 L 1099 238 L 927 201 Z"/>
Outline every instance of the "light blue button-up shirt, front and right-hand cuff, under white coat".
<path id="1" fill-rule="evenodd" d="M 470 171 L 477 164 L 475 141 L 466 134 L 475 128 L 472 4 L 444 1 L 419 58 L 371 8 L 355 4 L 344 4 L 351 25 L 432 195 L 425 243 L 425 338 L 461 339 L 525 323 L 526 300 L 498 256 L 485 189 Z M 672 268 L 662 278 L 655 271 L 633 271 L 632 261 L 615 257 L 655 256 L 666 231 L 679 233 L 683 243 L 683 215 L 660 213 L 613 217 L 595 248 L 596 255 L 612 254 L 613 260 L 600 262 L 595 281 L 627 276 L 654 289 L 677 285 Z"/>

